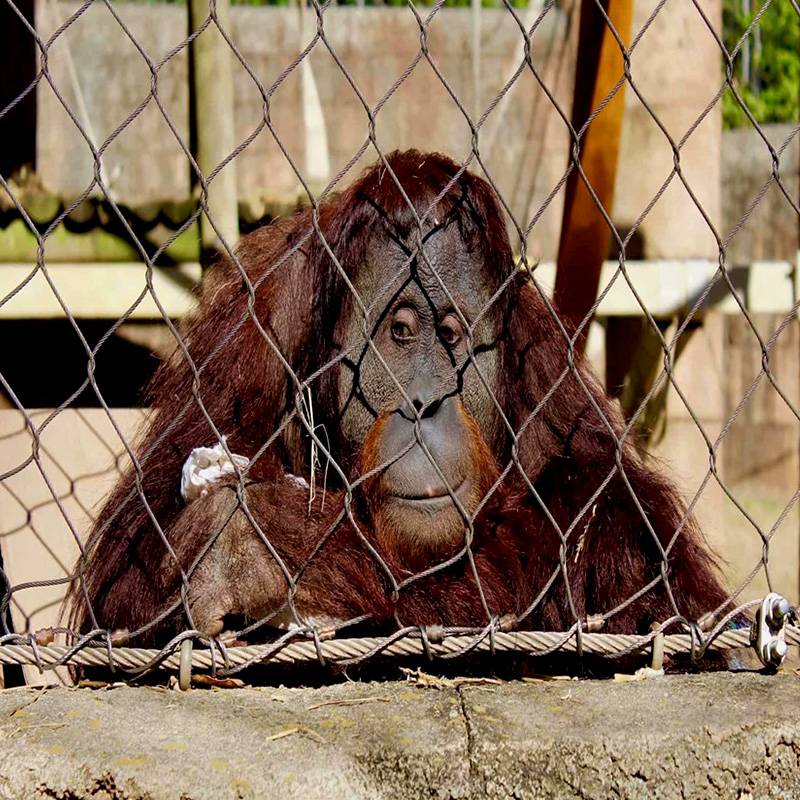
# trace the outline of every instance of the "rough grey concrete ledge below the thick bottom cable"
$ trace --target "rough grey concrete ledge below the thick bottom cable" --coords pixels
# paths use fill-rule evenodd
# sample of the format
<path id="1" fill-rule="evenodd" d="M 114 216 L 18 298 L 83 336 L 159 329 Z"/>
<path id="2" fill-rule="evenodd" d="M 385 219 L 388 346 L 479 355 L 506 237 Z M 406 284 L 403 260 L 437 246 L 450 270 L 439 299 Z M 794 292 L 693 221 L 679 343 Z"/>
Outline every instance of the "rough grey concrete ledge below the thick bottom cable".
<path id="1" fill-rule="evenodd" d="M 0 693 L 0 798 L 797 798 L 800 679 Z"/>

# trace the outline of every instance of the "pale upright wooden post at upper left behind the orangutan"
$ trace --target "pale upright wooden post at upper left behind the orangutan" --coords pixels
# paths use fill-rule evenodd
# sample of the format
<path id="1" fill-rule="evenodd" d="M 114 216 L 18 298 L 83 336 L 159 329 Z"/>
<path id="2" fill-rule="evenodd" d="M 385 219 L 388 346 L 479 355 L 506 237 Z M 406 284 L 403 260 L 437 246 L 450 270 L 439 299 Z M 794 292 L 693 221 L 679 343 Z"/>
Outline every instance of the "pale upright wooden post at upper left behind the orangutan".
<path id="1" fill-rule="evenodd" d="M 189 28 L 194 32 L 203 27 L 215 13 L 219 25 L 231 35 L 229 0 L 189 0 Z M 236 147 L 234 128 L 233 52 L 212 20 L 192 42 L 192 104 L 191 125 L 194 131 L 194 156 L 203 177 L 209 175 Z M 229 162 L 214 175 L 208 186 L 208 216 L 200 218 L 201 262 L 207 265 L 224 251 L 217 230 L 229 248 L 239 238 L 239 209 L 236 187 L 236 163 Z"/>

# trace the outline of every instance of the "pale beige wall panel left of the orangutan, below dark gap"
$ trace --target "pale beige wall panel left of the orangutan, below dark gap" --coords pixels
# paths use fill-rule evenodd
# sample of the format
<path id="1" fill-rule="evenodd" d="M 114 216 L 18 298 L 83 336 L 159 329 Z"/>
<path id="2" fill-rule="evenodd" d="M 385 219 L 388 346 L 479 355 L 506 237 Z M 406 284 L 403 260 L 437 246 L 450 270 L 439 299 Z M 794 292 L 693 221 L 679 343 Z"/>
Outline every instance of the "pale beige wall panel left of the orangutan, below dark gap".
<path id="1" fill-rule="evenodd" d="M 32 411 L 44 425 L 49 412 Z M 99 409 L 68 410 L 40 432 L 38 463 L 33 437 L 18 411 L 0 411 L 0 547 L 14 585 L 54 582 L 14 593 L 11 611 L 17 630 L 56 625 L 79 542 L 97 507 L 127 465 L 117 426 L 129 443 L 144 417 L 138 409 L 115 409 L 113 423 Z M 28 670 L 36 679 L 36 670 Z"/>

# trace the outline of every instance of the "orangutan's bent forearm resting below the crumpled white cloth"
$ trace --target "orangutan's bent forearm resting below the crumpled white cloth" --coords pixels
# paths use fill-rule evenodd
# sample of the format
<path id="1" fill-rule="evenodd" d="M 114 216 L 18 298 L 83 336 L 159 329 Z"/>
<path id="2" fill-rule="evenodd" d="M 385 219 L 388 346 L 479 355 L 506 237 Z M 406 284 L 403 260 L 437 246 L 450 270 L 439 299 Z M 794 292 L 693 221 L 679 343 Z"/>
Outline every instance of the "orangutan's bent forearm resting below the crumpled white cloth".
<path id="1" fill-rule="evenodd" d="M 243 496 L 246 508 L 233 486 L 220 486 L 190 503 L 169 533 L 187 575 L 195 628 L 216 636 L 226 616 L 268 617 L 286 604 L 289 577 L 301 618 L 389 613 L 378 567 L 341 515 L 342 496 L 328 492 L 324 510 L 318 499 L 309 514 L 308 490 L 287 476 L 251 484 Z M 181 577 L 172 556 L 161 575 L 177 596 Z"/>

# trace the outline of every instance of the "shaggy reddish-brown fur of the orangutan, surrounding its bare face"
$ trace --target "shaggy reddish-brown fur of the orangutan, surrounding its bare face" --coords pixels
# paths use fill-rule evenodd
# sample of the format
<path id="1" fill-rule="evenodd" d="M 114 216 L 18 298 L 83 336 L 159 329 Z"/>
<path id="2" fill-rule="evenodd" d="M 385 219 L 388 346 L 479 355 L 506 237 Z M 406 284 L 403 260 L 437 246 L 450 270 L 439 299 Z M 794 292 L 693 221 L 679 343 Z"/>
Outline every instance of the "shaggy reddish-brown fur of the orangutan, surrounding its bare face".
<path id="1" fill-rule="evenodd" d="M 413 152 L 392 156 L 391 164 L 420 212 L 457 172 L 443 156 Z M 439 201 L 437 213 L 460 215 L 464 246 L 481 253 L 487 280 L 499 286 L 514 272 L 502 214 L 485 182 L 463 174 Z M 396 229 L 413 225 L 405 200 L 382 167 L 321 208 L 319 229 L 350 278 L 363 267 L 367 240 L 383 229 L 385 217 Z M 528 628 L 569 628 L 575 614 L 585 619 L 608 612 L 660 577 L 613 615 L 605 630 L 644 631 L 676 611 L 694 620 L 724 602 L 713 559 L 694 521 L 684 519 L 685 507 L 675 489 L 643 461 L 629 439 L 617 446 L 622 421 L 582 363 L 577 371 L 567 368 L 564 333 L 522 274 L 512 278 L 493 310 L 501 331 L 500 378 L 494 390 L 518 437 L 514 441 L 507 433 L 503 441 L 487 442 L 470 422 L 474 469 L 482 488 L 512 464 L 474 523 L 474 572 L 462 557 L 411 580 L 395 596 L 384 566 L 370 555 L 364 540 L 377 549 L 397 582 L 412 578 L 420 564 L 409 563 L 402 548 L 394 547 L 401 532 L 373 527 L 380 517 L 375 506 L 380 497 L 358 490 L 352 507 L 358 530 L 345 517 L 330 532 L 344 503 L 341 482 L 331 475 L 324 509 L 318 487 L 309 513 L 307 490 L 286 477 L 287 472 L 309 473 L 307 440 L 296 418 L 269 448 L 261 449 L 295 409 L 296 385 L 283 359 L 300 380 L 313 374 L 336 356 L 342 320 L 353 313 L 340 271 L 319 237 L 313 232 L 307 236 L 310 231 L 308 211 L 258 230 L 238 250 L 244 274 L 224 264 L 205 282 L 199 311 L 183 328 L 198 379 L 179 350 L 153 381 L 149 398 L 154 418 L 137 451 L 141 477 L 131 471 L 99 516 L 71 595 L 74 626 L 136 631 L 176 598 L 180 575 L 166 542 L 188 568 L 219 523 L 219 517 L 216 523 L 212 519 L 213 504 L 207 500 L 184 509 L 178 491 L 181 465 L 192 448 L 213 444 L 221 434 L 228 437 L 232 452 L 255 458 L 244 496 L 252 518 L 288 569 L 299 574 L 296 600 L 306 613 L 340 619 L 369 613 L 378 621 L 396 619 L 401 624 L 479 625 L 486 622 L 487 609 L 475 573 L 489 614 L 529 612 L 522 622 Z M 248 283 L 253 287 L 252 313 Z M 335 456 L 337 374 L 335 368 L 327 370 L 313 383 L 315 419 L 326 425 Z M 545 400 L 555 384 L 558 388 Z M 379 428 L 380 422 L 376 436 Z M 368 439 L 360 458 L 356 454 L 342 464 L 350 477 L 374 463 L 370 448 Z M 228 498 L 227 508 L 235 508 L 233 490 L 219 492 Z M 223 503 L 214 502 L 217 509 Z M 562 540 L 556 527 L 566 533 L 581 514 L 563 542 L 566 575 L 557 573 L 531 610 L 559 569 Z M 241 511 L 235 519 L 238 549 L 227 563 L 238 563 L 240 572 L 228 579 L 242 585 L 251 578 L 259 585 L 272 581 L 265 593 L 272 592 L 272 600 L 285 597 L 287 583 L 263 541 L 248 532 L 251 526 L 243 522 Z M 326 533 L 325 543 L 306 564 Z M 663 576 L 660 548 L 668 548 Z M 244 560 L 241 550 L 246 551 Z M 245 606 L 239 610 L 247 610 L 246 598 L 236 602 Z M 163 638 L 185 625 L 177 613 L 148 628 L 140 640 Z"/>

